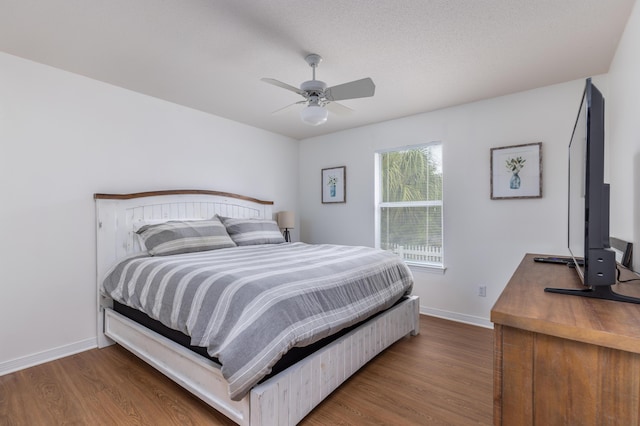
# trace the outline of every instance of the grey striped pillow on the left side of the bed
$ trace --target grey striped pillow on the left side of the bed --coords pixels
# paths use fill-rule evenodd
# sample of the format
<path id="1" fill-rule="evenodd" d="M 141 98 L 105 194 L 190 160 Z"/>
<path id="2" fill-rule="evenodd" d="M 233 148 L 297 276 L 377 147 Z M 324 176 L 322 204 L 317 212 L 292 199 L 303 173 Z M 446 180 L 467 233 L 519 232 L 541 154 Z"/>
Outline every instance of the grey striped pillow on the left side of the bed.
<path id="1" fill-rule="evenodd" d="M 236 246 L 224 225 L 215 217 L 208 220 L 172 220 L 157 225 L 145 225 L 137 233 L 152 256 Z"/>

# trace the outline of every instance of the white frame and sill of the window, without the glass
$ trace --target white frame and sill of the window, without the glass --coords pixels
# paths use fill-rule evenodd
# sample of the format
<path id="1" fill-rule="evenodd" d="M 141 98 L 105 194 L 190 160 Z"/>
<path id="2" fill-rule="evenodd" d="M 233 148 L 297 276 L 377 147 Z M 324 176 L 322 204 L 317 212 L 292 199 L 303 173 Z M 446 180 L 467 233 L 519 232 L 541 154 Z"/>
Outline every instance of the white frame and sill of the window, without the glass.
<path id="1" fill-rule="evenodd" d="M 383 202 L 381 201 L 382 199 L 382 182 L 380 181 L 381 176 L 382 176 L 382 157 L 384 154 L 386 153 L 390 153 L 390 152 L 399 152 L 399 151 L 409 151 L 409 150 L 413 150 L 413 149 L 418 149 L 418 148 L 424 148 L 424 147 L 431 147 L 431 146 L 440 146 L 440 150 L 441 150 L 441 155 L 443 154 L 443 148 L 444 145 L 441 141 L 431 141 L 431 142 L 425 142 L 425 143 L 420 143 L 420 144 L 415 144 L 415 145 L 405 145 L 405 146 L 399 146 L 399 147 L 393 147 L 393 148 L 386 148 L 386 149 L 381 149 L 381 150 L 377 150 L 375 152 L 375 189 L 374 189 L 374 204 L 375 204 L 375 217 L 374 217 L 374 223 L 375 223 L 375 247 L 376 248 L 381 248 L 381 217 L 382 217 L 382 209 L 383 208 L 389 208 L 389 207 L 431 207 L 431 206 L 439 206 L 441 209 L 441 222 L 442 222 L 442 248 L 441 248 L 441 262 L 440 263 L 435 263 L 435 262 L 420 262 L 420 261 L 414 261 L 414 260 L 406 260 L 403 259 L 403 261 L 409 265 L 410 267 L 417 267 L 420 268 L 421 270 L 427 270 L 429 272 L 434 272 L 434 273 L 441 273 L 444 274 L 444 271 L 446 270 L 446 267 L 444 265 L 444 252 L 445 252 L 445 248 L 444 248 L 444 169 L 442 170 L 442 186 L 443 186 L 443 190 L 442 190 L 442 197 L 440 200 L 422 200 L 422 201 L 395 201 L 395 202 Z M 441 164 L 442 166 L 442 164 Z"/>

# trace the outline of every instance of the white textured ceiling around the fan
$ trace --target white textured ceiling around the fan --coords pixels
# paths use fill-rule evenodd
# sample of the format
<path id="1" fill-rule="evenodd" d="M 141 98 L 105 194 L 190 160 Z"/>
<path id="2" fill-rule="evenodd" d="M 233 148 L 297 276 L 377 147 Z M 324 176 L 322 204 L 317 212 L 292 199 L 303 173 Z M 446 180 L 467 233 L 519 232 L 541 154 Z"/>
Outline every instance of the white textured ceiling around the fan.
<path id="1" fill-rule="evenodd" d="M 0 0 L 0 51 L 296 139 L 606 73 L 634 0 Z M 299 86 L 373 98 L 318 127 Z M 300 107 L 301 108 L 301 107 Z"/>

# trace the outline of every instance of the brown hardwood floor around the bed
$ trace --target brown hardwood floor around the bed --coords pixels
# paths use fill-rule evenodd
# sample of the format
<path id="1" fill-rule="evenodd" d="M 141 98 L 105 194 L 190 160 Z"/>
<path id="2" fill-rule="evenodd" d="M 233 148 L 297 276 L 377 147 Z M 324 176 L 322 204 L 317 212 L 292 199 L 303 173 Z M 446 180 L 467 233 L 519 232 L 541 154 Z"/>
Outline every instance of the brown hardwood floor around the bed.
<path id="1" fill-rule="evenodd" d="M 493 331 L 422 316 L 302 425 L 490 425 Z M 114 345 L 0 376 L 0 425 L 233 425 Z"/>

